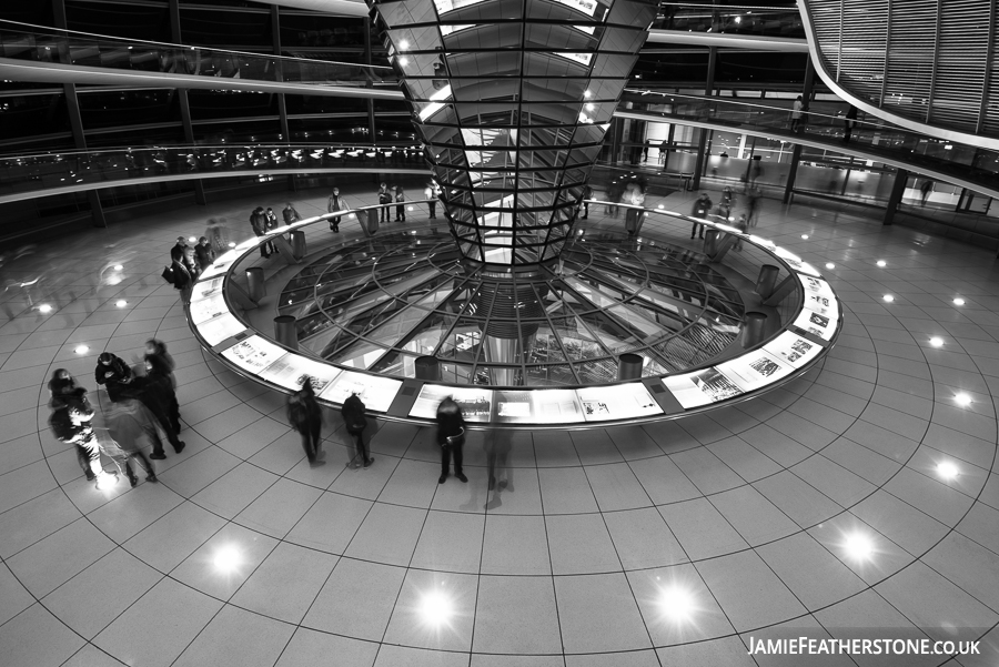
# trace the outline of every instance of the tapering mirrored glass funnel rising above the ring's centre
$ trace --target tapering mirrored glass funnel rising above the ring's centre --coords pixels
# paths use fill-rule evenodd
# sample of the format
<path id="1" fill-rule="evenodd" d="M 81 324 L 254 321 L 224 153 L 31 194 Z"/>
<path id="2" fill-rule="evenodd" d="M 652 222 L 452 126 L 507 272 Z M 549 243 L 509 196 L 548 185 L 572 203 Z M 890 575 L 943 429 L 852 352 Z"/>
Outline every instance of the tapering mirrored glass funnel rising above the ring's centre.
<path id="1" fill-rule="evenodd" d="M 464 259 L 553 261 L 572 232 L 649 0 L 369 0 Z"/>

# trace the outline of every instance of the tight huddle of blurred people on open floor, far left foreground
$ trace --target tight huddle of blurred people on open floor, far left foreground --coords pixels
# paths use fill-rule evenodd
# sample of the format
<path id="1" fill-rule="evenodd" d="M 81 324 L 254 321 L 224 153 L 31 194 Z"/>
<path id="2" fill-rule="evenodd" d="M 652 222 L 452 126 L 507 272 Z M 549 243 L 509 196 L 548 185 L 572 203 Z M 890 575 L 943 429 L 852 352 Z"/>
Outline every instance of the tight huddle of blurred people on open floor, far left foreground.
<path id="1" fill-rule="evenodd" d="M 101 463 L 104 454 L 115 465 L 114 482 L 124 474 L 135 486 L 139 477 L 132 469 L 134 461 L 145 472 L 148 482 L 157 482 L 150 459 L 167 458 L 163 436 L 180 454 L 185 444 L 181 432 L 173 357 L 162 341 L 150 338 L 140 363 L 133 371 L 124 360 L 103 352 L 94 368 L 94 382 L 108 392 L 109 405 L 103 410 L 104 426 L 93 424 L 97 415 L 85 387 L 65 368 L 59 368 L 49 381 L 49 426 L 56 437 L 73 445 L 77 461 L 88 481 L 97 481 L 100 488 L 108 473 Z M 137 372 L 138 371 L 138 372 Z M 143 448 L 152 445 L 149 457 Z"/>

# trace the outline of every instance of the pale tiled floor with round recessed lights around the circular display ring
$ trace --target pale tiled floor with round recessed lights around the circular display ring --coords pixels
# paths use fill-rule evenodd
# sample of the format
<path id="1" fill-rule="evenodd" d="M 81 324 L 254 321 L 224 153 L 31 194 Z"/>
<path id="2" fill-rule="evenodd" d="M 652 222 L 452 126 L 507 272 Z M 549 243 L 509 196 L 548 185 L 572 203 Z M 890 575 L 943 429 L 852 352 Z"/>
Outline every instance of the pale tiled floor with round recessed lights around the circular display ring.
<path id="1" fill-rule="evenodd" d="M 303 214 L 325 201 L 296 196 Z M 517 433 L 508 484 L 490 492 L 481 433 L 466 444 L 470 483 L 438 486 L 425 432 L 380 424 L 375 464 L 356 471 L 331 415 L 329 465 L 310 469 L 281 396 L 202 354 L 159 277 L 163 257 L 209 215 L 246 236 L 255 203 L 54 240 L 3 266 L 6 285 L 41 279 L 0 303 L 3 665 L 947 659 L 747 655 L 750 636 L 803 634 L 985 636 L 988 655 L 952 664 L 997 665 L 993 253 L 767 201 L 761 234 L 835 264 L 846 319 L 828 357 L 706 416 Z M 592 222 L 610 224 L 601 213 Z M 180 366 L 188 447 L 159 462 L 159 485 L 98 492 L 48 431 L 46 380 L 65 367 L 94 388 L 99 352 L 130 358 L 150 336 Z"/>

